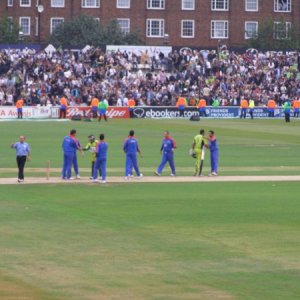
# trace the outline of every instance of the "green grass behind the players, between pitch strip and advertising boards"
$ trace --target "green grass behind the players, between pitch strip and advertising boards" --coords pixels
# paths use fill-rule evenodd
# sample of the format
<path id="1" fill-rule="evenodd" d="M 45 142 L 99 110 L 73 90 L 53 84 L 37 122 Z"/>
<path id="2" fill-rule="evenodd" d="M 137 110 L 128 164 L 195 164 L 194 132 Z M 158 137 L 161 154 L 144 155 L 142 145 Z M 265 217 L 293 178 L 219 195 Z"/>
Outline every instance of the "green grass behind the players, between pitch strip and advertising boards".
<path id="1" fill-rule="evenodd" d="M 0 155 L 2 168 L 15 167 L 14 151 L 9 145 L 20 134 L 28 136 L 33 160 L 27 167 L 44 168 L 48 160 L 51 166 L 60 168 L 62 164 L 61 142 L 73 127 L 78 138 L 85 145 L 91 133 L 106 134 L 109 143 L 108 168 L 113 175 L 123 174 L 123 140 L 130 129 L 135 129 L 144 158 L 140 167 L 145 174 L 152 174 L 160 162 L 159 149 L 164 130 L 170 130 L 178 144 L 175 162 L 178 175 L 193 172 L 194 161 L 188 156 L 193 137 L 200 128 L 213 129 L 220 147 L 220 173 L 223 175 L 247 174 L 297 174 L 300 150 L 299 121 L 286 124 L 283 120 L 110 120 L 108 123 L 87 122 L 1 122 Z M 5 150 L 7 145 L 7 150 Z M 89 168 L 90 159 L 79 158 L 81 168 Z M 254 172 L 253 172 L 254 167 Z M 209 168 L 207 153 L 205 168 Z M 267 168 L 267 169 L 266 169 Z M 268 169 L 269 168 L 269 169 Z M 274 168 L 274 170 L 272 169 Z M 1 172 L 3 173 L 3 172 Z M 56 174 L 58 175 L 58 174 Z M 87 174 L 86 174 L 87 175 Z M 109 175 L 109 174 L 108 174 Z M 0 174 L 1 176 L 1 174 Z M 2 175 L 3 176 L 3 175 Z"/>

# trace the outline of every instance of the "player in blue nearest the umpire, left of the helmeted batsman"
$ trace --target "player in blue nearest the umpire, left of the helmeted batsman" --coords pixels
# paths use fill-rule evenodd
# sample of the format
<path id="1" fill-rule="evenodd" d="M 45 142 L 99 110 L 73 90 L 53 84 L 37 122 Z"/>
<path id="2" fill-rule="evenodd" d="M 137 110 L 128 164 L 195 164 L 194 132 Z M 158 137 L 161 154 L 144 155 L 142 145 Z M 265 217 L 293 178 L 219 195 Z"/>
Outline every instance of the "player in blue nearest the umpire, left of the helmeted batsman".
<path id="1" fill-rule="evenodd" d="M 74 160 L 74 154 L 77 149 L 80 150 L 80 146 L 76 139 L 76 130 L 72 129 L 70 135 L 66 136 L 62 142 L 63 149 L 63 168 L 62 168 L 62 178 L 71 179 L 71 169 Z"/>

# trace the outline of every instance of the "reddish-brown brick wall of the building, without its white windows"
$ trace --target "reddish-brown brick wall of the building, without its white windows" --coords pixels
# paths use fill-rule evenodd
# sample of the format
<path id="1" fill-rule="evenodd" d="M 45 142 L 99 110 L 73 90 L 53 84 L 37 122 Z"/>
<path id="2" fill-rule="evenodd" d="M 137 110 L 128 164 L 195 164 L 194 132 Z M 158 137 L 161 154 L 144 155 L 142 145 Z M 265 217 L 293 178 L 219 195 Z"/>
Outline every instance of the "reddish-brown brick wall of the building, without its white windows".
<path id="1" fill-rule="evenodd" d="M 89 14 L 100 18 L 105 24 L 114 18 L 130 19 L 131 30 L 138 31 L 147 45 L 163 45 L 163 37 L 146 37 L 146 20 L 163 19 L 164 32 L 169 35 L 169 45 L 217 47 L 218 40 L 227 46 L 242 46 L 245 43 L 245 22 L 255 21 L 261 24 L 267 17 L 274 21 L 284 18 L 300 30 L 300 0 L 291 0 L 291 12 L 274 12 L 274 1 L 258 0 L 257 12 L 245 11 L 245 0 L 228 0 L 228 11 L 212 11 L 211 0 L 195 0 L 194 10 L 182 10 L 182 0 L 165 0 L 165 9 L 147 9 L 147 0 L 131 0 L 130 9 L 116 7 L 117 0 L 100 0 L 99 8 L 82 8 L 81 0 L 65 0 L 64 8 L 51 7 L 51 0 L 40 0 L 44 12 L 40 14 L 40 38 L 45 40 L 50 34 L 51 18 L 70 19 L 80 14 Z M 284 0 L 288 1 L 288 0 Z M 20 16 L 31 18 L 31 38 L 38 40 L 36 34 L 36 0 L 31 0 L 31 7 L 20 7 L 20 0 L 14 0 L 14 6 L 8 7 L 7 0 L 0 1 L 0 14 L 13 17 L 19 21 Z M 195 35 L 193 38 L 181 37 L 181 21 L 194 20 Z M 228 38 L 211 38 L 211 21 L 228 21 Z M 258 25 L 259 26 L 259 25 Z"/>

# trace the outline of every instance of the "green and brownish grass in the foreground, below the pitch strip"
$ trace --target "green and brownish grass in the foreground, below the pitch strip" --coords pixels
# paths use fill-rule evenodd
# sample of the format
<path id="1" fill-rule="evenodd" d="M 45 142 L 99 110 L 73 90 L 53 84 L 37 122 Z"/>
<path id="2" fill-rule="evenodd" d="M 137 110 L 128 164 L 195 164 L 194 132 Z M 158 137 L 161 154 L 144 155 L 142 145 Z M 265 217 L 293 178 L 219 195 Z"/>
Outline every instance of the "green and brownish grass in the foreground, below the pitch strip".
<path id="1" fill-rule="evenodd" d="M 298 183 L 1 187 L 0 287 L 28 299 L 298 299 L 298 191 Z"/>

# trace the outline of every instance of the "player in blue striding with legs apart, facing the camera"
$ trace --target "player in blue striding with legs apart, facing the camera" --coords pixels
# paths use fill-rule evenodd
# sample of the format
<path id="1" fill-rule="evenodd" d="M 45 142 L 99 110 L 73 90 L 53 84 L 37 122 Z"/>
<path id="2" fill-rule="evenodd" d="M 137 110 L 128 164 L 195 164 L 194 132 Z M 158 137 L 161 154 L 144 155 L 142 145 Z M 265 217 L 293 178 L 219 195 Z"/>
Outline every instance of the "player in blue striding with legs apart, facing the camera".
<path id="1" fill-rule="evenodd" d="M 163 168 L 165 167 L 166 163 L 168 162 L 171 168 L 171 176 L 175 176 L 175 164 L 174 164 L 174 150 L 176 149 L 176 142 L 170 136 L 169 131 L 164 132 L 164 138 L 162 141 L 162 145 L 160 148 L 160 153 L 162 154 L 161 163 L 157 168 L 155 174 L 157 176 L 161 175 Z"/>

